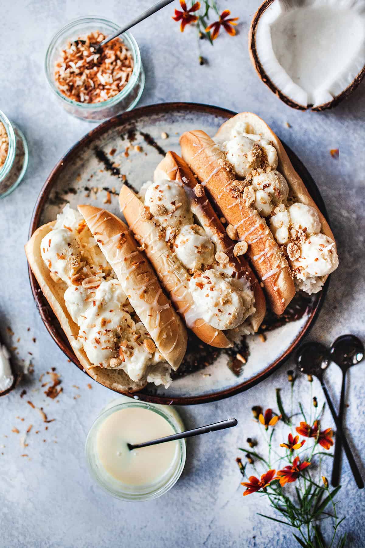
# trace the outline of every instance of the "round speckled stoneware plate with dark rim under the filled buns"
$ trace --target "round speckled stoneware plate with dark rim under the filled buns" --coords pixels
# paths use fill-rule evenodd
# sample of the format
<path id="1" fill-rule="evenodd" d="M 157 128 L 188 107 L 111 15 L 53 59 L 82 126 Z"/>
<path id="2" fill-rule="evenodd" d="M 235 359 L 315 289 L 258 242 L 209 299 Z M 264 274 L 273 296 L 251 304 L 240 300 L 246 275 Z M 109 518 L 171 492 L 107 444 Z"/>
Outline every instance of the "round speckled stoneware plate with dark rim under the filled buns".
<path id="1" fill-rule="evenodd" d="M 179 152 L 178 139 L 184 131 L 203 129 L 213 135 L 219 125 L 234 114 L 207 105 L 170 103 L 135 109 L 102 123 L 77 142 L 49 175 L 34 208 L 30 235 L 38 226 L 54 220 L 66 203 L 71 207 L 92 203 L 118 214 L 118 192 L 123 180 L 139 189 L 143 182 L 152 179 L 154 168 L 167 150 Z M 285 148 L 326 215 L 315 182 L 297 156 Z M 105 203 L 109 197 L 111 203 Z M 50 335 L 66 356 L 81 368 L 31 272 L 30 281 Z M 134 397 L 155 403 L 191 404 L 247 390 L 285 362 L 308 333 L 326 289 L 311 298 L 298 295 L 284 317 L 269 315 L 264 319 L 264 335 L 247 337 L 229 353 L 190 338 L 187 356 L 169 389 L 148 385 Z"/>

